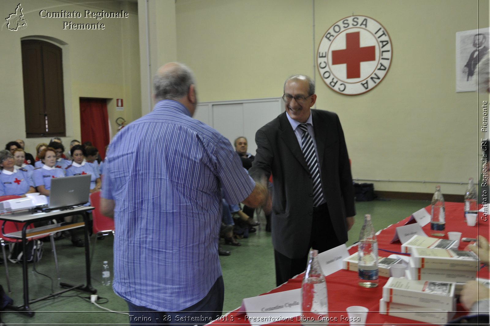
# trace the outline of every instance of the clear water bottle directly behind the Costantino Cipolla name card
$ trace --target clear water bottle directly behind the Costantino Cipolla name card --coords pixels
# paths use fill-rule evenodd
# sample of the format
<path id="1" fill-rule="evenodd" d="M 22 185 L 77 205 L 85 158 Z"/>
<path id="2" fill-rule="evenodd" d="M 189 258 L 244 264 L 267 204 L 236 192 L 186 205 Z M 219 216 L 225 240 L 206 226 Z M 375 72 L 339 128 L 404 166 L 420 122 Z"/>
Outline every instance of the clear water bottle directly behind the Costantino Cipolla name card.
<path id="1" fill-rule="evenodd" d="M 300 322 L 303 325 L 328 324 L 328 296 L 325 276 L 318 262 L 318 250 L 311 250 L 301 285 Z"/>

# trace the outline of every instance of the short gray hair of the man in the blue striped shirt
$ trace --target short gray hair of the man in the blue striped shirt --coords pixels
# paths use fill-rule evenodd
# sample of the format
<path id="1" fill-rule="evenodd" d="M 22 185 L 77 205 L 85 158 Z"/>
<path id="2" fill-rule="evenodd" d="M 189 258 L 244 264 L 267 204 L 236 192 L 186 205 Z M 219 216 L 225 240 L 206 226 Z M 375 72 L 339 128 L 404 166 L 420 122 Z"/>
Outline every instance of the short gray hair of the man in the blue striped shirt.
<path id="1" fill-rule="evenodd" d="M 153 79 L 155 100 L 158 102 L 181 99 L 187 95 L 192 84 L 196 84 L 194 74 L 184 64 L 163 74 L 157 73 Z"/>

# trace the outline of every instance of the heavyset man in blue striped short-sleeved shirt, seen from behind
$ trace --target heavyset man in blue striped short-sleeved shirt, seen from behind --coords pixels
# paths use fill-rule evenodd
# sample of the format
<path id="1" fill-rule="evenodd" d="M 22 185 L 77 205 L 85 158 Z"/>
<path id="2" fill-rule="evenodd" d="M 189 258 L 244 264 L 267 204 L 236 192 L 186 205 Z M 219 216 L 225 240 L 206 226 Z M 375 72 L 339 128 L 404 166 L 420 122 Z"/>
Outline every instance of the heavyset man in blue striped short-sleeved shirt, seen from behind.
<path id="1" fill-rule="evenodd" d="M 217 318 L 221 190 L 228 202 L 252 207 L 267 197 L 231 143 L 192 118 L 195 84 L 186 66 L 161 67 L 153 111 L 123 128 L 105 159 L 100 209 L 115 221 L 113 289 L 132 324 Z"/>

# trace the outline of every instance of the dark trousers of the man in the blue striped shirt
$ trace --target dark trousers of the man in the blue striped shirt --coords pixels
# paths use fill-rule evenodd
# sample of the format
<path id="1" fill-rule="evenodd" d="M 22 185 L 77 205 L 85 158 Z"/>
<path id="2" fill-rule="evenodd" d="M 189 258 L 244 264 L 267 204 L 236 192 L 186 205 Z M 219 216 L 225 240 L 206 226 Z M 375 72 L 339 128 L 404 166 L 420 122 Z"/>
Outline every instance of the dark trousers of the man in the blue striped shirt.
<path id="1" fill-rule="evenodd" d="M 129 324 L 131 325 L 205 325 L 217 319 L 223 312 L 223 276 L 218 277 L 204 299 L 181 311 L 156 311 L 140 307 L 129 301 Z"/>

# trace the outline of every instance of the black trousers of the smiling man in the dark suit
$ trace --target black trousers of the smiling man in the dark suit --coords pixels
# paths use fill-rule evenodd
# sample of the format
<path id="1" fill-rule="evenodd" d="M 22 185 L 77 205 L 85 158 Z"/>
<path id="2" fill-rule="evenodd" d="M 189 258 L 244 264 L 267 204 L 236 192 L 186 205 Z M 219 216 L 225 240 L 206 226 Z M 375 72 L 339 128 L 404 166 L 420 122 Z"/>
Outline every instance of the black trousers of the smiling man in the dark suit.
<path id="1" fill-rule="evenodd" d="M 274 232 L 274 231 L 272 231 Z M 316 207 L 313 211 L 313 223 L 308 248 L 323 252 L 341 245 L 332 227 L 327 204 Z M 308 252 L 300 258 L 289 258 L 274 249 L 274 263 L 276 269 L 276 286 L 287 282 L 294 275 L 305 271 L 308 263 Z"/>

